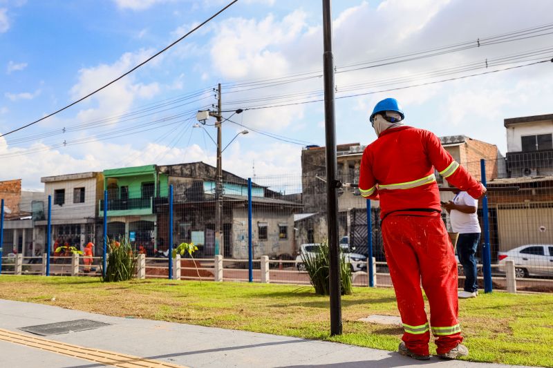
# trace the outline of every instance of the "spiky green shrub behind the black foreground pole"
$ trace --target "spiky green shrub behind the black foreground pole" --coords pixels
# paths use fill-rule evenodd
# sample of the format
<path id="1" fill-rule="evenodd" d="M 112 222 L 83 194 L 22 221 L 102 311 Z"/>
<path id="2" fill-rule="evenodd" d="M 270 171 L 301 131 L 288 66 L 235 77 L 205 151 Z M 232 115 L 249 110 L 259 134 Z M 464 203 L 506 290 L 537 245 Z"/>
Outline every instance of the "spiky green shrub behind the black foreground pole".
<path id="1" fill-rule="evenodd" d="M 328 240 L 321 243 L 319 251 L 315 253 L 315 256 L 306 254 L 301 255 L 301 260 L 306 266 L 306 271 L 309 274 L 309 279 L 313 287 L 315 287 L 315 293 L 319 295 L 330 294 L 329 290 L 329 271 L 330 271 L 330 247 L 328 246 Z M 340 250 L 340 273 L 341 273 L 341 295 L 347 295 L 352 293 L 351 287 L 351 270 L 350 264 L 346 262 L 344 254 Z"/>

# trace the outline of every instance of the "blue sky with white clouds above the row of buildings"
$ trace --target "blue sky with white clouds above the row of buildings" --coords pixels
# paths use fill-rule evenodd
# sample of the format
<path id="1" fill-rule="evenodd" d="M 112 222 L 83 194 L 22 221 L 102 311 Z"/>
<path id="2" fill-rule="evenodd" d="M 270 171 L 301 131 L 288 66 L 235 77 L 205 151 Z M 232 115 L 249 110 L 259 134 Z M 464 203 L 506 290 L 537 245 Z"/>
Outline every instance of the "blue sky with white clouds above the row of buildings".
<path id="1" fill-rule="evenodd" d="M 86 95 L 167 46 L 226 3 L 0 0 L 0 131 L 32 122 Z M 553 14 L 553 3 L 542 0 L 350 0 L 334 1 L 333 6 L 338 67 L 542 26 L 551 23 Z M 553 35 L 344 72 L 336 76 L 337 97 L 483 72 L 412 79 L 422 72 L 541 50 L 538 55 L 495 68 L 528 64 L 552 58 L 553 52 L 547 48 L 553 48 Z M 307 101 L 306 95 L 292 94 L 321 90 L 321 78 L 233 93 L 229 84 L 321 68 L 320 1 L 240 0 L 117 84 L 55 117 L 0 138 L 0 180 L 21 177 L 24 188 L 41 188 L 40 177 L 48 175 L 152 163 L 202 160 L 214 164 L 213 142 L 202 128 L 192 128 L 194 110 L 215 103 L 211 93 L 200 93 L 186 100 L 187 105 L 167 104 L 170 110 L 152 106 L 193 91 L 209 91 L 219 82 L 226 86 L 223 110 Z M 391 79 L 398 77 L 406 81 L 392 83 Z M 497 144 L 505 153 L 503 119 L 552 113 L 552 77 L 553 64 L 539 64 L 339 99 L 337 142 L 372 142 L 375 133 L 368 124 L 370 110 L 379 99 L 397 97 L 407 124 L 437 135 L 468 135 Z M 358 86 L 379 80 L 382 83 L 376 86 Z M 279 95 L 292 96 L 274 99 Z M 229 104 L 232 101 L 241 102 Z M 152 108 L 151 113 L 121 117 L 140 108 Z M 232 120 L 265 133 L 324 145 L 322 108 L 321 103 L 312 103 L 245 110 Z M 99 122 L 106 117 L 112 119 Z M 153 123 L 156 120 L 159 122 Z M 148 130 L 135 133 L 142 129 L 140 124 Z M 70 131 L 71 127 L 79 130 Z M 214 137 L 212 126 L 205 129 Z M 241 130 L 243 127 L 225 122 L 224 144 Z M 247 177 L 255 162 L 258 176 L 299 173 L 301 148 L 301 144 L 252 131 L 227 148 L 223 168 Z"/>

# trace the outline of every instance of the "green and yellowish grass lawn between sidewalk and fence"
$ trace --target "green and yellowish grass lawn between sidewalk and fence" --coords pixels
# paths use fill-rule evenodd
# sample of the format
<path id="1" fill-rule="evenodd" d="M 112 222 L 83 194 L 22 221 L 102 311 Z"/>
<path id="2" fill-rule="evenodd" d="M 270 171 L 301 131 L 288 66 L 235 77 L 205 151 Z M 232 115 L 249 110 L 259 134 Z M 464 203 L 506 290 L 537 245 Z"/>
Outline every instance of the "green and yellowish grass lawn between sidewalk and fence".
<path id="1" fill-rule="evenodd" d="M 393 289 L 355 288 L 344 296 L 344 334 L 335 337 L 329 334 L 328 297 L 316 296 L 311 287 L 2 275 L 0 298 L 386 350 L 396 350 L 402 335 L 400 327 L 357 321 L 371 314 L 398 316 Z M 460 321 L 469 360 L 553 367 L 553 295 L 481 293 L 460 300 Z"/>

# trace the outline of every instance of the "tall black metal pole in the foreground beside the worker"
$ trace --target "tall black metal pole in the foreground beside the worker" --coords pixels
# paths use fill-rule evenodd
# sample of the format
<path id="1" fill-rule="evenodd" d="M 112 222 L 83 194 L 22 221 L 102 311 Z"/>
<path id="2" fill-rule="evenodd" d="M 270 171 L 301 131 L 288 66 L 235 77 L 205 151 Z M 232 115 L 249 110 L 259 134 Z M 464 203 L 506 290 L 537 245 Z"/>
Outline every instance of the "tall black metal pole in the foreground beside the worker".
<path id="1" fill-rule="evenodd" d="M 341 282 L 338 247 L 338 197 L 336 127 L 334 111 L 334 60 L 332 57 L 332 11 L 330 0 L 323 0 L 323 75 L 326 136 L 326 213 L 328 215 L 330 335 L 341 335 Z"/>

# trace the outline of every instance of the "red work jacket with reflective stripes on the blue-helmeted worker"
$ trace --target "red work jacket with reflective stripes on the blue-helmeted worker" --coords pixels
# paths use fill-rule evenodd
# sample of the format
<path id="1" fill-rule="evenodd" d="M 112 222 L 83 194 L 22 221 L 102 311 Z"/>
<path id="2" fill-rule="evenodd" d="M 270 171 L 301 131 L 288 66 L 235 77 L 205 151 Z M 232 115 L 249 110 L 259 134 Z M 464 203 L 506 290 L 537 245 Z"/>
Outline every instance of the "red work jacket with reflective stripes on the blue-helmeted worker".
<path id="1" fill-rule="evenodd" d="M 363 197 L 380 200 L 382 218 L 393 212 L 414 213 L 409 209 L 437 213 L 442 208 L 434 168 L 452 186 L 474 198 L 482 195 L 482 185 L 444 150 L 438 137 L 411 126 L 384 130 L 365 148 L 359 168 L 359 191 Z"/>

